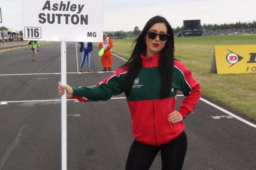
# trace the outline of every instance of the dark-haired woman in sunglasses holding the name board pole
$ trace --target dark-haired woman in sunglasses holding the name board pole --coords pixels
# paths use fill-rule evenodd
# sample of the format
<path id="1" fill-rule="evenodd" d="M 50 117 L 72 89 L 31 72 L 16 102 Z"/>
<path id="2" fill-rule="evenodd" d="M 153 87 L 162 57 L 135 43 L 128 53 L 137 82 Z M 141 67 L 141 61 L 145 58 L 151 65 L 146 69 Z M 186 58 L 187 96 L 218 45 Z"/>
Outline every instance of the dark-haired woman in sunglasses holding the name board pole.
<path id="1" fill-rule="evenodd" d="M 131 58 L 113 75 L 93 87 L 61 85 L 58 92 L 79 101 L 108 100 L 125 92 L 134 142 L 126 170 L 148 170 L 161 150 L 162 170 L 181 170 L 187 139 L 182 120 L 199 101 L 201 88 L 191 71 L 174 60 L 174 35 L 165 18 L 151 18 L 135 40 Z M 186 96 L 175 110 L 176 93 Z"/>

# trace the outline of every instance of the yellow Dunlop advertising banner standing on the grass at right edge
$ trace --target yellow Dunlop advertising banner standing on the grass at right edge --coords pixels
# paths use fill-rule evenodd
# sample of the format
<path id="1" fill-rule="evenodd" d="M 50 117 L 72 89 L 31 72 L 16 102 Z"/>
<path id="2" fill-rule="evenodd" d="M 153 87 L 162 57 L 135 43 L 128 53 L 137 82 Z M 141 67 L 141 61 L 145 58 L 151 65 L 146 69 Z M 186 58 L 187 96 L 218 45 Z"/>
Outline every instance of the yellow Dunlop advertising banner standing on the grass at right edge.
<path id="1" fill-rule="evenodd" d="M 256 45 L 216 45 L 211 72 L 256 73 Z"/>

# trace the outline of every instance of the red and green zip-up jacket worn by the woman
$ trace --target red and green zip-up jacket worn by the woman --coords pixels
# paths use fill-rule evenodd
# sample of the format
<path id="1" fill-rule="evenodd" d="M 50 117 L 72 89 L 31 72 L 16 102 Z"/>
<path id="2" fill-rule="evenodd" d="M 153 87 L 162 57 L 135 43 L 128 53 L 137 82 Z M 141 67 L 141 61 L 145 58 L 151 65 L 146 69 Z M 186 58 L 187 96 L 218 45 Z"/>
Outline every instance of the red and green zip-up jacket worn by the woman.
<path id="1" fill-rule="evenodd" d="M 181 90 L 186 96 L 178 110 L 183 118 L 193 113 L 201 95 L 200 85 L 192 77 L 191 71 L 179 60 L 175 60 L 172 92 L 165 99 L 161 99 L 159 57 L 141 55 L 141 70 L 134 80 L 130 94 L 126 96 L 134 138 L 148 145 L 168 143 L 184 131 L 183 122 L 168 121 L 168 115 L 175 110 L 177 90 Z M 124 92 L 127 70 L 127 67 L 121 67 L 95 86 L 73 88 L 71 98 L 87 102 L 108 100 L 113 95 L 119 95 Z"/>

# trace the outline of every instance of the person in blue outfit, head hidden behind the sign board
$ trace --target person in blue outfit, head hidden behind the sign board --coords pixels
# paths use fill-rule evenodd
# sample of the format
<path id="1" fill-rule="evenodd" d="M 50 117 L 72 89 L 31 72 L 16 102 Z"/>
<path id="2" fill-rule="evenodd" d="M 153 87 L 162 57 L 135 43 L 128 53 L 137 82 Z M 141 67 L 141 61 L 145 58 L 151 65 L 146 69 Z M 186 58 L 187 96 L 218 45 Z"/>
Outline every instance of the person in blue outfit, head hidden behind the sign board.
<path id="1" fill-rule="evenodd" d="M 78 44 L 81 45 L 80 47 L 80 52 L 82 53 L 82 61 L 80 65 L 80 72 L 82 72 L 83 68 L 83 63 L 85 62 L 85 58 L 87 56 L 87 61 L 88 61 L 88 72 L 90 72 L 90 53 L 93 51 L 92 49 L 92 42 L 78 42 Z"/>

